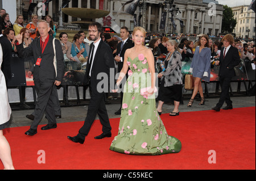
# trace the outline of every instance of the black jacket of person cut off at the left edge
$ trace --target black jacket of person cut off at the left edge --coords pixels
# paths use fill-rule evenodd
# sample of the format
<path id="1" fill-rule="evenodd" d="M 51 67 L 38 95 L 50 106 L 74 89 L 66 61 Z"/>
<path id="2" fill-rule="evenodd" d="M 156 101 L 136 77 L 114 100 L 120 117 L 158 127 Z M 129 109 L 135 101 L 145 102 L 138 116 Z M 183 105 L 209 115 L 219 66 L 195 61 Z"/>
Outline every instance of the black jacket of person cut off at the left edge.
<path id="1" fill-rule="evenodd" d="M 0 37 L 0 43 L 3 50 L 3 62 L 2 62 L 2 71 L 5 75 L 5 81 L 6 84 L 11 79 L 11 50 L 13 49 L 11 47 L 11 42 L 5 37 Z"/>

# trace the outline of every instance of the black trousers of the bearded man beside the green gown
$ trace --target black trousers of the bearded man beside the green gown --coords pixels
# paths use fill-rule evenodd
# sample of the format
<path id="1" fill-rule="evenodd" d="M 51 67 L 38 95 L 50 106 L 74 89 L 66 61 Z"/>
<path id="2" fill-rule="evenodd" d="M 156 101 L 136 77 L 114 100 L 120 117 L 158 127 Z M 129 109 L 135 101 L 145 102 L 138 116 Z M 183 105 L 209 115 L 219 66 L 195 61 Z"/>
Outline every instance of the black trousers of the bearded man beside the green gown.
<path id="1" fill-rule="evenodd" d="M 89 89 L 90 102 L 87 115 L 84 120 L 84 125 L 79 129 L 79 134 L 77 134 L 77 136 L 83 140 L 85 139 L 85 136 L 87 136 L 87 134 L 89 133 L 90 127 L 92 127 L 97 113 L 100 117 L 100 123 L 102 124 L 102 132 L 108 133 L 112 129 L 109 123 L 109 116 L 105 105 L 105 93 L 98 93 L 96 90 L 92 90 L 92 87 L 90 85 Z"/>

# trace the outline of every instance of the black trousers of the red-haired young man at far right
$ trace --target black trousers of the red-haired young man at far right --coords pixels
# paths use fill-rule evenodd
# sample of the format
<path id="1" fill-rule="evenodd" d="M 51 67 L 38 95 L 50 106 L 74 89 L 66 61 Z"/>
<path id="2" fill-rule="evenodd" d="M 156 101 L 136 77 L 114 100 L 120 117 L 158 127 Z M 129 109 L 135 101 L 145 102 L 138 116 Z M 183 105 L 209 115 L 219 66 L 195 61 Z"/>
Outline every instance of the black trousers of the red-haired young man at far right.
<path id="1" fill-rule="evenodd" d="M 220 86 L 221 86 L 221 94 L 220 99 L 218 100 L 217 107 L 221 108 L 226 102 L 228 106 L 232 106 L 232 100 L 230 100 L 229 95 L 229 85 L 231 82 L 231 77 L 220 77 Z"/>

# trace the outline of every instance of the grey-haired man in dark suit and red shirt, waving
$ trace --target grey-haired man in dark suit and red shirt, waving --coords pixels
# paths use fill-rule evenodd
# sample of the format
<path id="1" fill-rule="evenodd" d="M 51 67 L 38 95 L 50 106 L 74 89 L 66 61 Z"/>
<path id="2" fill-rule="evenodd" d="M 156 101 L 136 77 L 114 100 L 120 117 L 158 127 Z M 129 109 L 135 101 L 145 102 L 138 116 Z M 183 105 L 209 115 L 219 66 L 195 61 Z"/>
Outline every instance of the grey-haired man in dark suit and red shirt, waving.
<path id="1" fill-rule="evenodd" d="M 35 118 L 30 129 L 25 134 L 33 136 L 37 133 L 38 124 L 42 120 L 44 113 L 48 119 L 48 124 L 42 130 L 56 128 L 55 111 L 53 108 L 54 94 L 56 86 L 59 86 L 64 74 L 64 56 L 60 41 L 49 36 L 49 27 L 46 21 L 38 24 L 40 37 L 36 38 L 30 46 L 23 48 L 22 35 L 17 35 L 19 45 L 16 46 L 19 56 L 34 57 L 34 83 L 38 92 L 38 101 L 35 106 Z M 53 51 L 53 43 L 56 53 Z M 56 59 L 55 59 L 56 57 Z M 56 85 L 56 86 L 55 86 Z"/>

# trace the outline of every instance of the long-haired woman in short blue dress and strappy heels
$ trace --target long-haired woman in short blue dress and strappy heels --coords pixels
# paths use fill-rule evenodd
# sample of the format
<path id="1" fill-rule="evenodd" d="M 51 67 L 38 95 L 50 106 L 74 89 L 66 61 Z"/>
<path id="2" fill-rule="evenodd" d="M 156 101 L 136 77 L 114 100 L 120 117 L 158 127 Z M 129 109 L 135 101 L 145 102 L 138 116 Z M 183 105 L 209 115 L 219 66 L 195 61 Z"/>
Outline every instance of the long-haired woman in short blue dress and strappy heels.
<path id="1" fill-rule="evenodd" d="M 209 38 L 207 35 L 203 35 L 199 39 L 199 46 L 196 47 L 189 69 L 189 72 L 191 72 L 194 77 L 194 89 L 191 99 L 187 104 L 188 107 L 192 106 L 197 92 L 199 92 L 201 96 L 199 105 L 204 105 L 205 103 L 201 79 L 210 82 L 210 54 Z"/>

